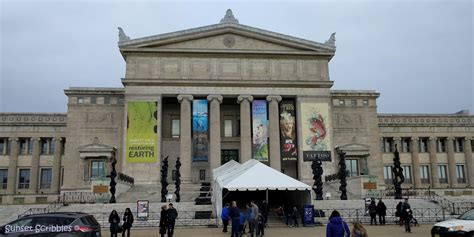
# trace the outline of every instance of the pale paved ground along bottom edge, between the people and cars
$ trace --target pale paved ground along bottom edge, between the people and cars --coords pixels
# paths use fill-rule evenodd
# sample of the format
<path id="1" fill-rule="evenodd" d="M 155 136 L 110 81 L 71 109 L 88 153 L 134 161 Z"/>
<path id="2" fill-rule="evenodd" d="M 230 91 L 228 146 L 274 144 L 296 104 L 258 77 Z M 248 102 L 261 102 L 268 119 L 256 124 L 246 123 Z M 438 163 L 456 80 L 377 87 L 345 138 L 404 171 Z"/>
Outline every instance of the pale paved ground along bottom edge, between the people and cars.
<path id="1" fill-rule="evenodd" d="M 400 236 L 412 236 L 412 237 L 426 237 L 430 236 L 430 230 L 432 225 L 421 225 L 420 227 L 413 227 L 412 233 L 405 233 L 405 229 L 398 225 L 386 225 L 386 226 L 366 226 L 367 232 L 371 237 L 400 237 Z M 110 236 L 108 228 L 102 231 L 103 236 Z M 143 236 L 160 236 L 158 234 L 158 228 L 149 229 L 132 229 L 130 233 L 133 237 Z M 174 237 L 229 237 L 229 233 L 222 233 L 222 228 L 183 228 L 176 229 Z M 243 235 L 247 237 L 248 235 Z M 319 237 L 326 236 L 326 226 L 316 227 L 299 227 L 299 228 L 288 228 L 288 227 L 270 227 L 265 229 L 266 237 L 280 237 L 280 236 L 291 236 L 291 237 Z"/>

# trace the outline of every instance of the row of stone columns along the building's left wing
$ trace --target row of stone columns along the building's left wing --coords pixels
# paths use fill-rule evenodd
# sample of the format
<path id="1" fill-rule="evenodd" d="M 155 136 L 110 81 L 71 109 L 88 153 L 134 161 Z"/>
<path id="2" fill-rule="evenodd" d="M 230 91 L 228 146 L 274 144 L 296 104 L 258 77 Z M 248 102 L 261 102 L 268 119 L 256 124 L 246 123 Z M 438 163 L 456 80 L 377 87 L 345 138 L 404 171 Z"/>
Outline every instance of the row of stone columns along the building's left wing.
<path id="1" fill-rule="evenodd" d="M 11 144 L 10 150 L 10 162 L 8 166 L 8 181 L 7 181 L 7 194 L 15 194 L 17 191 L 17 185 L 19 181 L 18 177 L 18 156 L 19 156 L 19 138 L 9 138 Z M 38 193 L 38 179 L 39 179 L 39 166 L 40 166 L 40 154 L 41 144 L 40 138 L 31 138 L 33 142 L 33 151 L 31 155 L 31 166 L 30 166 L 30 184 L 29 192 Z M 62 139 L 54 138 L 54 154 L 53 154 L 53 168 L 51 177 L 51 193 L 59 193 L 60 189 L 60 172 L 61 172 L 61 154 L 62 154 Z"/>

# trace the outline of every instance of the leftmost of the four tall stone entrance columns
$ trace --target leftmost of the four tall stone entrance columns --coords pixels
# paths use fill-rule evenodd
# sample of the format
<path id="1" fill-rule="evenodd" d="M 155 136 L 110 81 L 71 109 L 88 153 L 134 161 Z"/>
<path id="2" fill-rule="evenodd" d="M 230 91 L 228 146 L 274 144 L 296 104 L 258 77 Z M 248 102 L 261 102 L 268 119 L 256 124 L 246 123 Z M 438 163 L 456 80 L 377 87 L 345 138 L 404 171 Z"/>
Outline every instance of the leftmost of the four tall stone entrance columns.
<path id="1" fill-rule="evenodd" d="M 180 132 L 179 135 L 179 157 L 181 159 L 181 181 L 192 182 L 192 141 L 191 141 L 191 101 L 192 95 L 178 95 L 181 103 Z"/>

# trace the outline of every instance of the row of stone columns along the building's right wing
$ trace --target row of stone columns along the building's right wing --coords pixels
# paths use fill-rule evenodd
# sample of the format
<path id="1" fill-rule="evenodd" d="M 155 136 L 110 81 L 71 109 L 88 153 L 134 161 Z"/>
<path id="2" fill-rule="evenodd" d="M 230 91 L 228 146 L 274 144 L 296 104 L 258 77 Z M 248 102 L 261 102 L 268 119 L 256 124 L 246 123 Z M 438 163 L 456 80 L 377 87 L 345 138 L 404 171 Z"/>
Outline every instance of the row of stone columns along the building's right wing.
<path id="1" fill-rule="evenodd" d="M 395 138 L 395 142 L 400 147 L 401 138 Z M 437 157 L 437 139 L 436 137 L 430 137 L 428 143 L 428 153 L 430 158 L 430 173 L 431 173 L 431 185 L 433 188 L 440 188 L 439 174 L 438 174 L 438 157 Z M 456 160 L 454 152 L 454 138 L 448 137 L 447 142 L 447 158 L 448 158 L 448 173 L 449 173 L 449 186 L 459 187 L 458 179 L 456 176 Z M 413 167 L 413 180 L 414 187 L 421 188 L 421 177 L 420 177 L 420 160 L 419 160 L 419 138 L 411 138 L 411 158 Z M 464 157 L 466 159 L 465 175 L 468 185 L 474 187 L 474 166 L 472 158 L 472 146 L 471 138 L 466 137 L 464 139 Z"/>

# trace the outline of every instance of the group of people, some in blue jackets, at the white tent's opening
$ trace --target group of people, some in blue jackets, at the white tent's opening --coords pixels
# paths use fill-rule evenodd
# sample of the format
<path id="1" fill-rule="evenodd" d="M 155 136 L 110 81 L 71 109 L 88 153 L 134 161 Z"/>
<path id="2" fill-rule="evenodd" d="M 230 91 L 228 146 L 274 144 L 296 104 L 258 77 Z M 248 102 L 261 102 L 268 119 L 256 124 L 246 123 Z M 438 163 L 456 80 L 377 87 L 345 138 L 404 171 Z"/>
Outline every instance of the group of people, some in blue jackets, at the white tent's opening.
<path id="1" fill-rule="evenodd" d="M 247 203 L 245 210 L 240 210 L 236 201 L 232 204 L 226 203 L 222 208 L 221 219 L 224 225 L 222 232 L 227 233 L 229 222 L 231 223 L 231 237 L 239 237 L 245 234 L 245 229 L 249 227 L 251 237 L 264 236 L 265 225 L 268 218 L 268 204 L 264 201 L 260 207 L 255 201 Z"/>

